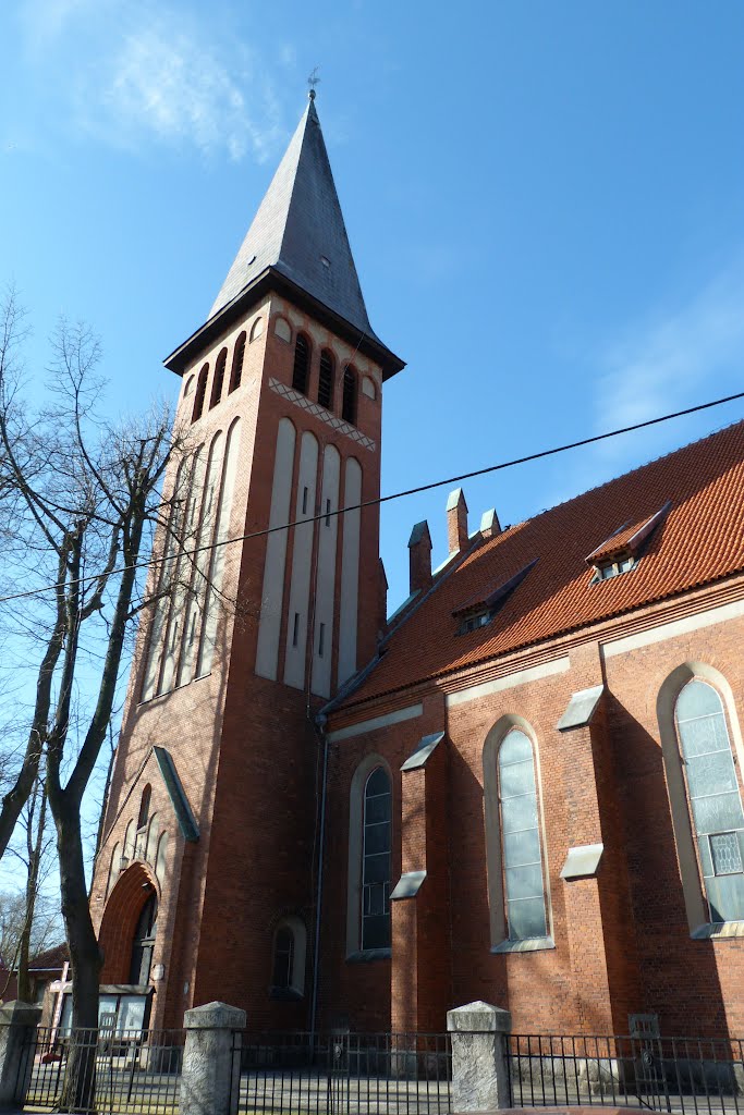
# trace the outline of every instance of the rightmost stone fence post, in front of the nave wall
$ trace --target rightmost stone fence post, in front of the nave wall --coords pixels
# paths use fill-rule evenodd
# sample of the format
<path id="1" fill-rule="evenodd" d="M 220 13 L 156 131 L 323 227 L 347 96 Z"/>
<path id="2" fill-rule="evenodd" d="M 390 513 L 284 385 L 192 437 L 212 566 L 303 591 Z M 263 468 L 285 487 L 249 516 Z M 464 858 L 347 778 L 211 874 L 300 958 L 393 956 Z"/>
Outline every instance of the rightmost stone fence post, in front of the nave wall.
<path id="1" fill-rule="evenodd" d="M 470 1002 L 447 1011 L 447 1029 L 452 1036 L 453 1112 L 511 1107 L 510 1012 L 490 1002 Z"/>

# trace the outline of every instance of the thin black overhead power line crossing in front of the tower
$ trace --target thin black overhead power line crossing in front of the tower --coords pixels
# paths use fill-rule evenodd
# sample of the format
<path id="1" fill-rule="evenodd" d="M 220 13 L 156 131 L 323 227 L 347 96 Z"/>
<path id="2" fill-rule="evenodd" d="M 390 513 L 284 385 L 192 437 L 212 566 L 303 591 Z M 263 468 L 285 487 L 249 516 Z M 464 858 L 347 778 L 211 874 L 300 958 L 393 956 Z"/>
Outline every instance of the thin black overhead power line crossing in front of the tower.
<path id="1" fill-rule="evenodd" d="M 504 468 L 514 468 L 516 465 L 525 465 L 530 460 L 542 460 L 544 457 L 553 457 L 559 453 L 567 453 L 569 449 L 580 449 L 584 445 L 595 445 L 597 442 L 607 442 L 610 437 L 619 437 L 621 434 L 631 434 L 637 429 L 647 429 L 649 426 L 658 426 L 663 421 L 670 421 L 673 418 L 684 418 L 686 415 L 698 414 L 700 410 L 709 410 L 712 407 L 723 406 L 724 403 L 734 403 L 736 399 L 744 399 L 744 391 L 735 395 L 726 395 L 721 399 L 712 399 L 709 403 L 698 403 L 694 407 L 685 407 L 684 410 L 673 410 L 657 418 L 647 418 L 645 421 L 637 421 L 630 426 L 620 426 L 618 429 L 608 430 L 605 434 L 595 434 L 592 437 L 582 437 L 578 442 L 567 442 L 564 445 L 555 445 L 550 449 L 540 449 L 538 453 L 528 453 L 523 457 L 514 457 L 511 460 L 502 460 L 496 465 L 486 465 L 485 468 L 475 468 L 470 473 L 460 473 L 457 476 L 448 476 L 446 479 L 432 481 L 429 484 L 419 484 L 413 488 L 405 488 L 403 492 L 392 492 L 389 495 L 378 496 L 376 500 L 365 500 L 363 503 L 355 503 L 350 507 L 338 507 L 336 511 L 319 512 L 317 515 L 308 515 L 307 518 L 296 518 L 291 523 L 282 523 L 279 526 L 265 526 L 260 531 L 250 531 L 248 534 L 238 534 L 232 539 L 223 539 L 221 542 L 207 542 L 202 546 L 194 546 L 191 550 L 180 550 L 175 554 L 167 554 L 161 558 L 148 558 L 147 561 L 137 562 L 134 565 L 120 565 L 112 571 L 112 576 L 124 573 L 127 570 L 148 569 L 167 561 L 175 561 L 178 558 L 192 558 L 195 554 L 204 553 L 207 550 L 216 550 L 219 546 L 233 545 L 235 542 L 248 542 L 250 539 L 260 539 L 277 531 L 288 531 L 292 526 L 301 526 L 306 523 L 317 523 L 323 518 L 336 515 L 347 515 L 350 511 L 361 511 L 364 507 L 374 507 L 381 503 L 389 503 L 392 500 L 403 500 L 405 496 L 418 495 L 421 492 L 431 492 L 437 487 L 445 487 L 448 484 L 458 484 L 462 481 L 470 481 L 476 476 L 486 476 L 489 473 L 497 473 Z M 86 584 L 88 581 L 97 580 L 95 573 L 80 576 L 69 584 Z M 39 589 L 28 589 L 25 592 L 15 592 L 7 597 L 0 597 L 0 604 L 11 600 L 22 600 L 26 597 L 38 597 L 45 592 L 56 592 L 60 584 L 47 584 Z"/>

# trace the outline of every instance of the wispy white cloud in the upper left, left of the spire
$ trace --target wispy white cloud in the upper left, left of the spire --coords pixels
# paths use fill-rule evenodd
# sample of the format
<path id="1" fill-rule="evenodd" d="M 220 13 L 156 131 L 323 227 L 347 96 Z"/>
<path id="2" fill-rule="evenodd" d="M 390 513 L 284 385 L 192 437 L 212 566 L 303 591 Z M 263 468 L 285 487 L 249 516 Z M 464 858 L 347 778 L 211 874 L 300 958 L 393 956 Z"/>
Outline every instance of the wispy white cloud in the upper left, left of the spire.
<path id="1" fill-rule="evenodd" d="M 65 72 L 49 94 L 67 101 L 74 127 L 100 140 L 259 162 L 280 142 L 278 99 L 259 54 L 183 4 L 26 0 L 23 28 L 47 80 Z"/>

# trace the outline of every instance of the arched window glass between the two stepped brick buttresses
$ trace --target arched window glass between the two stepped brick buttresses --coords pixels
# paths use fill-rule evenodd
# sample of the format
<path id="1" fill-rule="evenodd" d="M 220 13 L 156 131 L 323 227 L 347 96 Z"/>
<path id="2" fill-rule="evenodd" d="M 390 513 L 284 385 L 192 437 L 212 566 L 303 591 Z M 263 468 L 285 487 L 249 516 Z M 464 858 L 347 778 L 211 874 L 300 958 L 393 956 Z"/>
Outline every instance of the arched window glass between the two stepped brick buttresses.
<path id="1" fill-rule="evenodd" d="M 513 728 L 499 748 L 499 806 L 510 941 L 544 938 L 545 883 L 532 740 Z"/>

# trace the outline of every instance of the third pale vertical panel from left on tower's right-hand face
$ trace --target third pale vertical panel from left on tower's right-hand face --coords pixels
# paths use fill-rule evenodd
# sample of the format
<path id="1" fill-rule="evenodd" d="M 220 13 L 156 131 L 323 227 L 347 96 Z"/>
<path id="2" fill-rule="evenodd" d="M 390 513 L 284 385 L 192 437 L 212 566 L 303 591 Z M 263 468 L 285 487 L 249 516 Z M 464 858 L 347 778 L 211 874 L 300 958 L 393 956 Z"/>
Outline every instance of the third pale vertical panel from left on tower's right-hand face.
<path id="1" fill-rule="evenodd" d="M 334 649 L 334 602 L 336 598 L 336 540 L 338 536 L 338 484 L 341 458 L 338 449 L 323 450 L 318 522 L 318 572 L 316 575 L 315 622 L 312 634 L 313 694 L 330 697 L 330 660 Z"/>

